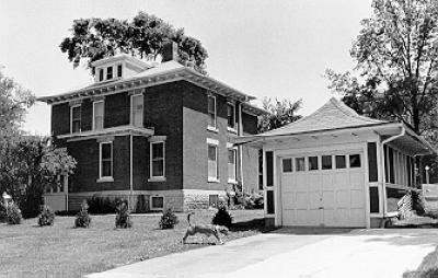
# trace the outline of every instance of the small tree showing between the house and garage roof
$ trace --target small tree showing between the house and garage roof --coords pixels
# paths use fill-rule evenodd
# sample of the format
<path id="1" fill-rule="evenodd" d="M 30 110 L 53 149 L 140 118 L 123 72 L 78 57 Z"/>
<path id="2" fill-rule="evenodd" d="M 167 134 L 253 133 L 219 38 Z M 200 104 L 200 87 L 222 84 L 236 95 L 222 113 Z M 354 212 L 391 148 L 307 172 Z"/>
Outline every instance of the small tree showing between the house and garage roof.
<path id="1" fill-rule="evenodd" d="M 263 115 L 257 125 L 258 132 L 265 132 L 301 118 L 297 115 L 297 111 L 301 107 L 301 100 L 292 102 L 290 100 L 279 101 L 270 97 L 264 97 L 262 101 L 263 108 L 269 112 L 268 115 Z"/>

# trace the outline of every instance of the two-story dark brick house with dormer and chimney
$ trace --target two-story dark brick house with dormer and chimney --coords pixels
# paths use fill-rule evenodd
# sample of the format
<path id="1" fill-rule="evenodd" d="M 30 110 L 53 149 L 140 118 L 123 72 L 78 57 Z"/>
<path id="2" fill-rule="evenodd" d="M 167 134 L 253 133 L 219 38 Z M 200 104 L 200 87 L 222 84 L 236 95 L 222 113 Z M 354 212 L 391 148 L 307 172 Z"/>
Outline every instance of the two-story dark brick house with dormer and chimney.
<path id="1" fill-rule="evenodd" d="M 217 204 L 237 184 L 258 188 L 257 151 L 232 142 L 255 134 L 265 112 L 165 47 L 161 63 L 105 58 L 92 65 L 93 84 L 39 99 L 51 105 L 55 143 L 78 162 L 45 196 L 55 210 L 97 195 L 124 197 L 138 211 L 182 211 Z"/>

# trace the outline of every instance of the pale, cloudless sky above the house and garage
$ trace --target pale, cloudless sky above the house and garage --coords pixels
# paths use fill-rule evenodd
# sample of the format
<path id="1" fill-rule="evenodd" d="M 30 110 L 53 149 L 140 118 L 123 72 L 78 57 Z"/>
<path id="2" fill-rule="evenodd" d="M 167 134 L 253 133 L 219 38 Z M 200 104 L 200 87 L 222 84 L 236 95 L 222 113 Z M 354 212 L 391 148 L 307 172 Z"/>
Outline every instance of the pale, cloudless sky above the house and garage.
<path id="1" fill-rule="evenodd" d="M 337 96 L 327 89 L 325 69 L 354 68 L 349 49 L 371 0 L 0 0 L 2 71 L 36 96 L 92 82 L 89 70 L 73 69 L 59 49 L 80 18 L 129 20 L 145 11 L 184 27 L 208 51 L 210 77 L 258 100 L 302 99 L 308 115 Z M 34 105 L 23 125 L 50 134 L 50 106 Z"/>

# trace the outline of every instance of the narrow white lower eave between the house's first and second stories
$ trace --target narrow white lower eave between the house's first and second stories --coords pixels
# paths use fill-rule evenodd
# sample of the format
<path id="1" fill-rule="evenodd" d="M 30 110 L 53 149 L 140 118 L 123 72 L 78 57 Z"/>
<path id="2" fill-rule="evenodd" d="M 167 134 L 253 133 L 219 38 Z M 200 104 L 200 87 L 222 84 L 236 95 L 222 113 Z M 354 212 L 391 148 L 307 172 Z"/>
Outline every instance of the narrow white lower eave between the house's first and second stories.
<path id="1" fill-rule="evenodd" d="M 67 141 L 81 141 L 81 140 L 108 137 L 108 136 L 132 135 L 132 136 L 151 137 L 151 136 L 153 136 L 153 134 L 154 134 L 153 129 L 135 127 L 135 126 L 128 125 L 128 126 L 104 128 L 104 129 L 99 129 L 99 130 L 87 130 L 87 131 L 74 132 L 74 134 L 59 135 L 59 136 L 57 136 L 57 138 L 66 139 Z"/>

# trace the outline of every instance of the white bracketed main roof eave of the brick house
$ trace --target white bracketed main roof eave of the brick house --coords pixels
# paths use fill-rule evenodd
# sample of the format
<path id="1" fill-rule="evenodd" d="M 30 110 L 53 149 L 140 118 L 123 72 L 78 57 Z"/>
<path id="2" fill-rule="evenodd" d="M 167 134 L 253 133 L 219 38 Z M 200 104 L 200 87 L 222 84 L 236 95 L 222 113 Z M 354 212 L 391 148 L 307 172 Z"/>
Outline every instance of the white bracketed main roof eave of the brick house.
<path id="1" fill-rule="evenodd" d="M 181 67 L 177 69 L 168 70 L 164 72 L 145 77 L 132 77 L 128 79 L 117 80 L 114 82 L 108 82 L 105 84 L 92 84 L 88 88 L 74 90 L 64 94 L 38 97 L 37 101 L 45 102 L 47 104 L 59 104 L 70 101 L 88 99 L 91 96 L 108 95 L 128 90 L 145 89 L 148 86 L 153 86 L 180 80 L 188 81 L 204 89 L 214 91 L 219 95 L 234 99 L 237 101 L 247 102 L 251 100 L 255 100 L 254 96 L 242 93 L 218 80 L 203 76 L 191 68 Z"/>

